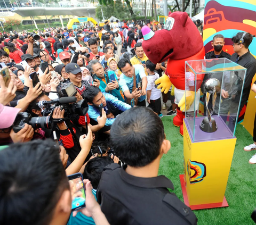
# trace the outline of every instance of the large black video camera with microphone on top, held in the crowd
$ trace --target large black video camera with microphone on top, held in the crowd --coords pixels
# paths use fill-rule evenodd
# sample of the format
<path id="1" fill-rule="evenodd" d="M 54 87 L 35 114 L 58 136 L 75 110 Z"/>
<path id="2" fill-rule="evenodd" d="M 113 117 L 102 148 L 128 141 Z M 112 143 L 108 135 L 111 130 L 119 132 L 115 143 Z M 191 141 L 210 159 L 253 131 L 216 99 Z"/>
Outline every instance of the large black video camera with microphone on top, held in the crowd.
<path id="1" fill-rule="evenodd" d="M 85 115 L 89 108 L 85 99 L 76 102 L 76 97 L 62 97 L 52 101 L 40 101 L 37 105 L 41 109 L 44 108 L 44 116 L 51 114 L 56 106 L 60 106 L 61 110 L 65 110 L 65 118 L 70 114 Z"/>

